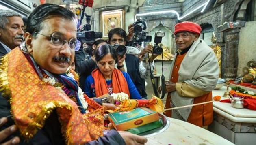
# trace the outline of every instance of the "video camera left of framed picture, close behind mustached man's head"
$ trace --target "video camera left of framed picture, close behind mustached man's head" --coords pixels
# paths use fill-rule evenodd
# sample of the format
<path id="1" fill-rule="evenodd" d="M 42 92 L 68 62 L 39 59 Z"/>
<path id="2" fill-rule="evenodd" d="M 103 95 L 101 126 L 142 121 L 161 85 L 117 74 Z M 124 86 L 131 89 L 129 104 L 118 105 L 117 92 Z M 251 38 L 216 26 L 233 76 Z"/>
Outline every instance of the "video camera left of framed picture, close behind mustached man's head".
<path id="1" fill-rule="evenodd" d="M 76 33 L 76 37 L 82 43 L 93 43 L 96 38 L 102 38 L 101 32 L 91 31 L 91 16 L 86 15 L 86 24 L 82 27 L 82 31 Z"/>

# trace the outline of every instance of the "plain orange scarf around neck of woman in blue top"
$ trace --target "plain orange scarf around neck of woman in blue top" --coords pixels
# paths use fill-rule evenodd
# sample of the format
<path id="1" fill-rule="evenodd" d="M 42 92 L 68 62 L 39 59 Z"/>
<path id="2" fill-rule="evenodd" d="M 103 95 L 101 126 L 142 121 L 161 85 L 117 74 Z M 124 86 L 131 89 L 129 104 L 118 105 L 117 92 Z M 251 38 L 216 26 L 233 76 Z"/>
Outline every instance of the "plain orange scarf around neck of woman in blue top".
<path id="1" fill-rule="evenodd" d="M 106 84 L 106 79 L 104 78 L 100 70 L 95 69 L 91 74 L 94 79 L 96 97 L 100 97 L 104 94 L 107 94 L 108 87 Z M 115 68 L 112 72 L 112 88 L 113 93 L 124 92 L 128 94 L 128 96 L 130 97 L 129 87 L 126 82 L 126 79 L 124 78 L 123 73 Z"/>

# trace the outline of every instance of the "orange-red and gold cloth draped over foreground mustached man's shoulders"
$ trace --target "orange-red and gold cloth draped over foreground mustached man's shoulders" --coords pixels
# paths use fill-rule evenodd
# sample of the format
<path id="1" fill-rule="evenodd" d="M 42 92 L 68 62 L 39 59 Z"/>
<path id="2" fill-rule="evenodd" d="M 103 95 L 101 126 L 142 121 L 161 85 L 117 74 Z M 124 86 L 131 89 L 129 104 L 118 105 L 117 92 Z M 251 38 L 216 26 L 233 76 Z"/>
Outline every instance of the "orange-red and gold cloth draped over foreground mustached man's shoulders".
<path id="1" fill-rule="evenodd" d="M 40 79 L 20 48 L 1 59 L 0 88 L 11 105 L 20 134 L 32 138 L 56 109 L 67 144 L 85 144 L 103 135 L 103 107 L 85 96 L 87 114 L 81 114 L 69 96 Z"/>

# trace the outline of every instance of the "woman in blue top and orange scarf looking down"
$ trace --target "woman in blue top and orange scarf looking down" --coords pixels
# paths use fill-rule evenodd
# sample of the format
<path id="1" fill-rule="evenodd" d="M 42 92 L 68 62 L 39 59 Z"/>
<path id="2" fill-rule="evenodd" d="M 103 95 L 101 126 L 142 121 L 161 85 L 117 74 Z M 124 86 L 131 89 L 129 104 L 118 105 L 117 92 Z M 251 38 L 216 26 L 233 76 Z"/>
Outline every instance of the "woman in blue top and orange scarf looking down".
<path id="1" fill-rule="evenodd" d="M 98 68 L 85 81 L 85 94 L 88 97 L 99 97 L 104 94 L 124 92 L 130 99 L 141 99 L 128 73 L 115 68 L 117 53 L 111 45 L 102 45 L 95 51 Z"/>

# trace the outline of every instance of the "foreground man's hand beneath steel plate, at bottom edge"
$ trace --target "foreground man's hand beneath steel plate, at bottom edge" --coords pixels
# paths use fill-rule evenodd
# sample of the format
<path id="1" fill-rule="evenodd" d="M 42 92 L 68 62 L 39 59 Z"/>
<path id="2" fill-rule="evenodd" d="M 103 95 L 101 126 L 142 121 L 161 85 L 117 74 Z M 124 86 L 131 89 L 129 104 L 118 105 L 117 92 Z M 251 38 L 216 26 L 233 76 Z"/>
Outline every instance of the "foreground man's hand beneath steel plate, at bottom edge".
<path id="1" fill-rule="evenodd" d="M 126 145 L 144 145 L 148 141 L 147 138 L 130 132 L 119 131 L 118 133 L 122 136 Z"/>

